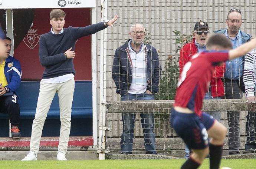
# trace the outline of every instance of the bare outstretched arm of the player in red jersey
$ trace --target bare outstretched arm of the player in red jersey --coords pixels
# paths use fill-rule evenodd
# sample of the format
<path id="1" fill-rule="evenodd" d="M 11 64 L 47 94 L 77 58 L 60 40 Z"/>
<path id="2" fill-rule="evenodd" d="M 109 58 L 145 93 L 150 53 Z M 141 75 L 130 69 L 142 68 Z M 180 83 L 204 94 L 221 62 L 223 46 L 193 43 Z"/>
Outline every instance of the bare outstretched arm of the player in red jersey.
<path id="1" fill-rule="evenodd" d="M 252 50 L 255 46 L 256 46 L 256 38 L 252 39 L 247 43 L 242 44 L 236 49 L 229 50 L 229 60 L 236 59 L 237 57 L 245 55 L 250 50 Z"/>

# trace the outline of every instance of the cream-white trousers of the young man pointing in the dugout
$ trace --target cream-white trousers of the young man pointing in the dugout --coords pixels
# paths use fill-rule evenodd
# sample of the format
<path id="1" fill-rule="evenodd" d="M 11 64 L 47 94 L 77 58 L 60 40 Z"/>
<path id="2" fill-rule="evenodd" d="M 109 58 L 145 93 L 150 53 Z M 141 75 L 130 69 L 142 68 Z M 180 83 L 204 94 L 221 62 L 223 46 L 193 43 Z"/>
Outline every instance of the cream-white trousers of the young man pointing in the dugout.
<path id="1" fill-rule="evenodd" d="M 60 107 L 60 137 L 58 153 L 66 153 L 71 126 L 71 107 L 75 90 L 75 80 L 70 79 L 64 83 L 52 84 L 40 82 L 40 91 L 37 100 L 36 115 L 33 120 L 32 133 L 30 139 L 30 152 L 35 154 L 39 151 L 43 125 L 55 93 L 58 93 Z"/>

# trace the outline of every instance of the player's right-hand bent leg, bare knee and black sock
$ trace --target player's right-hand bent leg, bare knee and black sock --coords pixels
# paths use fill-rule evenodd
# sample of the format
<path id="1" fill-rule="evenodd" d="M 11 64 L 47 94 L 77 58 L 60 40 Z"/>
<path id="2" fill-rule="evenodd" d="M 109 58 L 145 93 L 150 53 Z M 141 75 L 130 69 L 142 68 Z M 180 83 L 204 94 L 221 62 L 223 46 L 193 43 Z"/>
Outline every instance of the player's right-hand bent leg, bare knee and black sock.
<path id="1" fill-rule="evenodd" d="M 202 113 L 202 123 L 206 126 L 210 139 L 210 169 L 218 169 L 220 165 L 222 147 L 226 137 L 227 129 L 209 114 Z"/>

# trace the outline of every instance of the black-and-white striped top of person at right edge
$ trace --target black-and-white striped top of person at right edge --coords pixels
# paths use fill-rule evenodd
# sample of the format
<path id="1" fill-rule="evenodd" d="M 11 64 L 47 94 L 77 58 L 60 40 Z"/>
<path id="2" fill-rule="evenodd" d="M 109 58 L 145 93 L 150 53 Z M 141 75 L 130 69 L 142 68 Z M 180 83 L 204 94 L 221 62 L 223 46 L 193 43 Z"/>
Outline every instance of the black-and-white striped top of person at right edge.
<path id="1" fill-rule="evenodd" d="M 246 54 L 244 59 L 243 82 L 246 97 L 254 96 L 256 72 L 256 48 Z"/>

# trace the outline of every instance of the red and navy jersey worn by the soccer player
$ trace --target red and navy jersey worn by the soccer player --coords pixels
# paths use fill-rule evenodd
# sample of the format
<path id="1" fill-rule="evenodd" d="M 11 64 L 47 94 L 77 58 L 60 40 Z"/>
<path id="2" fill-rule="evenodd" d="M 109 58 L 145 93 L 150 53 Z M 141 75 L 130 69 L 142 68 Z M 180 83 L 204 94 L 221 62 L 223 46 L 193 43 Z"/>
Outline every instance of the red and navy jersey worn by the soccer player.
<path id="1" fill-rule="evenodd" d="M 180 74 L 174 106 L 187 107 L 201 116 L 203 98 L 209 90 L 214 66 L 228 59 L 228 51 L 204 51 L 194 54 Z"/>

